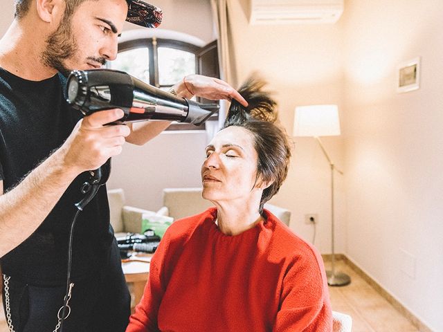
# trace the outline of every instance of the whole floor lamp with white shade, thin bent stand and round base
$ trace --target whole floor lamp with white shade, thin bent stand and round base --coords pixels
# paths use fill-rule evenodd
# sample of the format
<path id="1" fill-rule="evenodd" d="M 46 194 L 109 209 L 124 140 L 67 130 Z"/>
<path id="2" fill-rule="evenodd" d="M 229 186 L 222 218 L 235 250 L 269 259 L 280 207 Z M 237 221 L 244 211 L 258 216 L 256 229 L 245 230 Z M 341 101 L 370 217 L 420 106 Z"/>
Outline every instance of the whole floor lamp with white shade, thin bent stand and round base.
<path id="1" fill-rule="evenodd" d="M 350 284 L 351 278 L 345 273 L 335 270 L 334 253 L 334 171 L 343 174 L 332 163 L 319 136 L 340 135 L 340 121 L 338 120 L 338 108 L 336 105 L 311 105 L 296 107 L 296 116 L 293 124 L 293 136 L 313 136 L 325 155 L 331 167 L 331 246 L 332 246 L 332 269 L 327 271 L 327 284 L 329 286 L 345 286 Z"/>

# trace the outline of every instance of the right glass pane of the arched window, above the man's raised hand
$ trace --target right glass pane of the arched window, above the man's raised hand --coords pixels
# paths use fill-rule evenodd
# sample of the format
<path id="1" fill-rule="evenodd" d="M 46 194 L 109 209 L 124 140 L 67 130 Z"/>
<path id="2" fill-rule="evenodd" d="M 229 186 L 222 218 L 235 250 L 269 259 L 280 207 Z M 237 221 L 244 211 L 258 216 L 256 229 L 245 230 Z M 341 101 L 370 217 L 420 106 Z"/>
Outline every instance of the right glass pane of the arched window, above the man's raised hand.
<path id="1" fill-rule="evenodd" d="M 159 47 L 159 84 L 173 85 L 186 75 L 195 74 L 195 54 L 186 50 Z"/>

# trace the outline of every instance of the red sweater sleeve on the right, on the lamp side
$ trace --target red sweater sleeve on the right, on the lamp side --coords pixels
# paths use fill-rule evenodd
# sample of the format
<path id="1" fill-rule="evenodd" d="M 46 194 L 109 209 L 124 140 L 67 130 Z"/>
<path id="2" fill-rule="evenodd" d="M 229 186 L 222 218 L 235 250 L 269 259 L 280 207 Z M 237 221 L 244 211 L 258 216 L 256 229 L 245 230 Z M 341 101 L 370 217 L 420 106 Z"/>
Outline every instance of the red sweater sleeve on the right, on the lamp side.
<path id="1" fill-rule="evenodd" d="M 282 282 L 274 332 L 332 331 L 332 311 L 323 261 L 319 255 L 298 256 Z"/>

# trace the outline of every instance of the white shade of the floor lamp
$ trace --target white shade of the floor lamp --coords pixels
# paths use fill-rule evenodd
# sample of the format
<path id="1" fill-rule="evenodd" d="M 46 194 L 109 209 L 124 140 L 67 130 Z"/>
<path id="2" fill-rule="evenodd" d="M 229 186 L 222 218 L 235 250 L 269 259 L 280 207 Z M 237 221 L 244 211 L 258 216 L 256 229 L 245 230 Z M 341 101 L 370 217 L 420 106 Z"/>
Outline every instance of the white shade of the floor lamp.
<path id="1" fill-rule="evenodd" d="M 337 105 L 296 107 L 293 136 L 338 136 L 340 120 Z"/>

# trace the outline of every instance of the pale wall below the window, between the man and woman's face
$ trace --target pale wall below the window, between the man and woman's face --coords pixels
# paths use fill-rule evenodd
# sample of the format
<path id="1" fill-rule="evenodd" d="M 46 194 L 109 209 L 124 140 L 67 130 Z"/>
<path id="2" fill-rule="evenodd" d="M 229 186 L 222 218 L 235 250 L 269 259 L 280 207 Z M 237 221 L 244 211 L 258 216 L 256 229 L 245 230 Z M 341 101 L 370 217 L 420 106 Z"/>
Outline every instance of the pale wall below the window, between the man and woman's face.
<path id="1" fill-rule="evenodd" d="M 206 145 L 204 131 L 165 132 L 142 147 L 126 143 L 112 158 L 107 186 L 123 188 L 128 205 L 159 210 L 163 188 L 201 186 Z"/>

